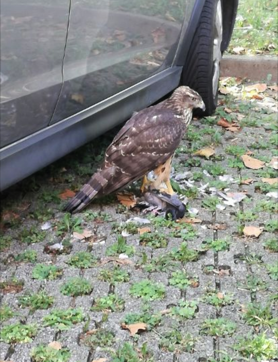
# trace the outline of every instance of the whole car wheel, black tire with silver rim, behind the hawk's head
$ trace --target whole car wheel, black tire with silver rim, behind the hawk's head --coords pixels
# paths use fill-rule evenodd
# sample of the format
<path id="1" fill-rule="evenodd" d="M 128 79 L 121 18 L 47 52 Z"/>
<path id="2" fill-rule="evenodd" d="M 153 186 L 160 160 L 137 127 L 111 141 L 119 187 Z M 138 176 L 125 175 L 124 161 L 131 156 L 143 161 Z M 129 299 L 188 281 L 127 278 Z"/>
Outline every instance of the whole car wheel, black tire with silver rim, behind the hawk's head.
<path id="1" fill-rule="evenodd" d="M 182 83 L 203 98 L 205 115 L 217 106 L 222 33 L 221 0 L 206 0 L 182 74 Z"/>

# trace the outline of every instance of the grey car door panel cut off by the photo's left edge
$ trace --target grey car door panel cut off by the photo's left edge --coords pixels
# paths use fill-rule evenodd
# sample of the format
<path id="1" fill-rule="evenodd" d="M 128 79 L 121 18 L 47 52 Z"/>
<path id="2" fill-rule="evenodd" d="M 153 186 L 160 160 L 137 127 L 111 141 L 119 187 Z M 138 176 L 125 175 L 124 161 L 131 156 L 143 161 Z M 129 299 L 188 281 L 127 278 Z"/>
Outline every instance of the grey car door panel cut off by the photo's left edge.
<path id="1" fill-rule="evenodd" d="M 1 0 L 1 147 L 45 128 L 62 87 L 70 0 Z"/>

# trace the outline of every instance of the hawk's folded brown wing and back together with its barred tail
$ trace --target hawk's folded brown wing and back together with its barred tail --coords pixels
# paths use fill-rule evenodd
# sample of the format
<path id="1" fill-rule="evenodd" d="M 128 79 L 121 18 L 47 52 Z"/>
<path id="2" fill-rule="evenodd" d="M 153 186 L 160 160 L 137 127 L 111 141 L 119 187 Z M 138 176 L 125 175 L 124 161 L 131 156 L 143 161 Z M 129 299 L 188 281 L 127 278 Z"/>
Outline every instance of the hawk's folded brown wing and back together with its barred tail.
<path id="1" fill-rule="evenodd" d="M 65 210 L 79 211 L 95 196 L 123 188 L 163 164 L 179 146 L 184 131 L 185 124 L 170 110 L 150 107 L 138 112 L 115 136 L 100 169 Z"/>

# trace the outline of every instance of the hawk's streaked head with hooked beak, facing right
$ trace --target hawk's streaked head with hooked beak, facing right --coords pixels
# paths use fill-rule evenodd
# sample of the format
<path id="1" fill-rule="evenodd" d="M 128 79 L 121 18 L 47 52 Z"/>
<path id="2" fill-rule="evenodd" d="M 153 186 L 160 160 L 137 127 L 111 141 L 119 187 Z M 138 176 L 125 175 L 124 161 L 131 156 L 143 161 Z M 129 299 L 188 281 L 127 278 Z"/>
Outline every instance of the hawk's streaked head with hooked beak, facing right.
<path id="1" fill-rule="evenodd" d="M 185 109 L 192 111 L 194 108 L 201 108 L 201 110 L 205 110 L 205 104 L 199 93 L 185 85 L 175 89 L 167 103 L 181 114 Z"/>

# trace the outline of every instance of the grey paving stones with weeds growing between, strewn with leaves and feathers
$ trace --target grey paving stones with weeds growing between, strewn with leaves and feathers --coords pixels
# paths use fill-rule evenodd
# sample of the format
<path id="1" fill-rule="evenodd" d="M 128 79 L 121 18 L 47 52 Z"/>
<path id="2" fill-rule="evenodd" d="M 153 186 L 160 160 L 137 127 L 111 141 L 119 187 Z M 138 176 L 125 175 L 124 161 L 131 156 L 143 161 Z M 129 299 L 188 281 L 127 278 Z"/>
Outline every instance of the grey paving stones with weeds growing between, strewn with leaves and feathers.
<path id="1" fill-rule="evenodd" d="M 3 193 L 0 360 L 275 360 L 277 86 L 226 83 L 174 160 L 190 211 L 179 223 L 136 215 L 115 195 L 61 211 L 111 135 Z M 207 147 L 215 153 L 194 155 Z M 148 223 L 127 223 L 135 216 Z"/>

